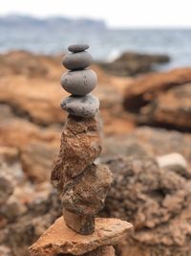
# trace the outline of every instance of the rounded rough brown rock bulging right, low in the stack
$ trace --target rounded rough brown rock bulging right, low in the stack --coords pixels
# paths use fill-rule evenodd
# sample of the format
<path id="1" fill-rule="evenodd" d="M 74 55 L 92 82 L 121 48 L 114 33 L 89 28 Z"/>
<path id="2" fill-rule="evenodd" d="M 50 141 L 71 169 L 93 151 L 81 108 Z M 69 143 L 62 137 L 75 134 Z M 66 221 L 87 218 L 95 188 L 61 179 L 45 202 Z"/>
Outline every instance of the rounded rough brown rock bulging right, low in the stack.
<path id="1" fill-rule="evenodd" d="M 109 168 L 92 164 L 65 185 L 62 204 L 74 213 L 96 215 L 104 206 L 111 183 Z"/>

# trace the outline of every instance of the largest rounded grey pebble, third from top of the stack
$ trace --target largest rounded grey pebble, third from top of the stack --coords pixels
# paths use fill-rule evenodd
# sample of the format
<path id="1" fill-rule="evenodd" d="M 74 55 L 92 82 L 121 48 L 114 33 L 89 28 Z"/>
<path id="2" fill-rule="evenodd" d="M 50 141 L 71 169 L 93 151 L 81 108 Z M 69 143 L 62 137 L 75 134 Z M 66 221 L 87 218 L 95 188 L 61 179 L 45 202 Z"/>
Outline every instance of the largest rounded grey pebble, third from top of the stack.
<path id="1" fill-rule="evenodd" d="M 69 71 L 62 75 L 62 87 L 71 94 L 84 96 L 96 87 L 97 77 L 92 69 Z"/>

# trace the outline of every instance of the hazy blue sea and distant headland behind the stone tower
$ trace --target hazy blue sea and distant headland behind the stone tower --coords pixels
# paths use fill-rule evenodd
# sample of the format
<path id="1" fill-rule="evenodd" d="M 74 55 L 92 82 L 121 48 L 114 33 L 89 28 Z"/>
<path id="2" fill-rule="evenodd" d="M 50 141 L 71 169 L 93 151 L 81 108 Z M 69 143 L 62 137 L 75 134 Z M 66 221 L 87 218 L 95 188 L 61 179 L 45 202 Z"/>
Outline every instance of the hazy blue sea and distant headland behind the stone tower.
<path id="1" fill-rule="evenodd" d="M 124 52 L 165 55 L 171 61 L 157 70 L 168 70 L 191 66 L 190 41 L 189 29 L 111 29 L 103 20 L 90 18 L 0 16 L 0 53 L 57 55 L 72 43 L 85 42 L 96 60 L 111 61 Z"/>

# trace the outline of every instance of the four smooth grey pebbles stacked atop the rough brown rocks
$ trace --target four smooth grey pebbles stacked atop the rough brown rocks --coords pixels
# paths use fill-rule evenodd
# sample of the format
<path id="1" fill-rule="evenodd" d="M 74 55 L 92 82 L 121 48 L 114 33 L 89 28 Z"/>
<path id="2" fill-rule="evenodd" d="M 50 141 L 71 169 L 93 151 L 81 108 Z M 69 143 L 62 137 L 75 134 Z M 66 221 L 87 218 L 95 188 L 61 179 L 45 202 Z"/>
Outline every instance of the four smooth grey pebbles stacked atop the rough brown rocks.
<path id="1" fill-rule="evenodd" d="M 62 64 L 69 69 L 62 75 L 62 87 L 72 95 L 64 99 L 61 107 L 69 114 L 80 117 L 94 117 L 99 108 L 98 99 L 90 94 L 96 87 L 97 77 L 92 69 L 87 69 L 93 62 L 86 51 L 87 44 L 74 44 L 68 50 L 72 53 L 63 58 Z"/>

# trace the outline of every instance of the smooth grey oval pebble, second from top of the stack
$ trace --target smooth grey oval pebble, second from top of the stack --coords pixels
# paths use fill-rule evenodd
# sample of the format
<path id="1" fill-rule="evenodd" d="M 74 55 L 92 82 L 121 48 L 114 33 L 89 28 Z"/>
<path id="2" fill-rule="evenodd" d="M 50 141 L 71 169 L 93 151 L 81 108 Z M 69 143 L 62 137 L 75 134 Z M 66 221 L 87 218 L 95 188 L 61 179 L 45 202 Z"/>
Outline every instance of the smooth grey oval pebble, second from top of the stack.
<path id="1" fill-rule="evenodd" d="M 86 51 L 80 52 L 80 53 L 68 54 L 62 60 L 63 66 L 70 70 L 86 68 L 90 66 L 92 62 L 93 62 L 92 56 Z"/>

